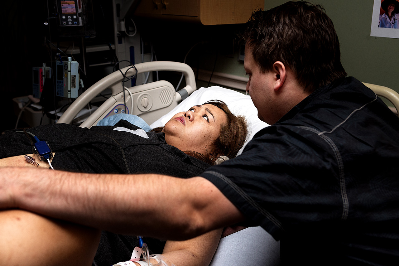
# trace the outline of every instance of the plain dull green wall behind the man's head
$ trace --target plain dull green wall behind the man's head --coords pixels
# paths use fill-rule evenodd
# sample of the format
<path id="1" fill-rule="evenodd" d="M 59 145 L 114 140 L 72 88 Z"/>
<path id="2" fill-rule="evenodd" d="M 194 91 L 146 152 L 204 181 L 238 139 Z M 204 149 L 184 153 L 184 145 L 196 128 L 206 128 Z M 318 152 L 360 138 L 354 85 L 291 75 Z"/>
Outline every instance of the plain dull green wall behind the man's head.
<path id="1" fill-rule="evenodd" d="M 286 0 L 265 0 L 265 9 L 284 2 Z M 399 92 L 399 39 L 370 36 L 374 0 L 310 2 L 324 6 L 334 22 L 341 45 L 341 61 L 348 75 Z M 243 75 L 242 67 L 237 59 L 225 58 L 215 70 Z"/>

